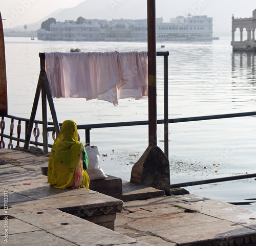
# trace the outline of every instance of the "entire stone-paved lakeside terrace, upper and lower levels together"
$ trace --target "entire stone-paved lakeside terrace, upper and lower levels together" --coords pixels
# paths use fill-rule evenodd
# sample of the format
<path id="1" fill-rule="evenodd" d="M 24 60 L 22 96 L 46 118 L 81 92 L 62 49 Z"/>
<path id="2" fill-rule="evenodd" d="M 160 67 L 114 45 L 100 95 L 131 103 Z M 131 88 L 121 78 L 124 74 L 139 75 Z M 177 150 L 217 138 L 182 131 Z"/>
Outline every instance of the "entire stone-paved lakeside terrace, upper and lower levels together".
<path id="1" fill-rule="evenodd" d="M 45 156 L 0 149 L 0 226 L 8 226 L 0 245 L 256 245 L 256 211 L 124 181 L 124 202 L 85 188 L 59 190 L 41 174 L 47 165 Z M 105 228 L 113 220 L 115 231 Z"/>

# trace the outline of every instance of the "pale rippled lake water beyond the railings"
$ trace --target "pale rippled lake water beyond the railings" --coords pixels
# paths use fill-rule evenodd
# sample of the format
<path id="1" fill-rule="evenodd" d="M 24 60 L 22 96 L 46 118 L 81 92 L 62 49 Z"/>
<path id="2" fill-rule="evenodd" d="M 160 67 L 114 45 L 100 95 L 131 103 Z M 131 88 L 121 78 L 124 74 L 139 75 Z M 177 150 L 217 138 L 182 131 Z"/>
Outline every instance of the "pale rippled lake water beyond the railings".
<path id="1" fill-rule="evenodd" d="M 230 38 L 208 42 L 166 42 L 169 51 L 169 119 L 255 111 L 254 53 L 232 53 Z M 40 71 L 39 52 L 146 51 L 138 42 L 64 42 L 6 37 L 8 114 L 29 118 Z M 86 99 L 54 99 L 59 122 L 77 124 L 147 120 L 147 99 L 123 99 L 118 106 Z M 163 57 L 157 57 L 157 117 L 163 119 Z M 40 102 L 36 119 L 41 120 Z M 48 112 L 48 120 L 52 121 Z M 169 162 L 172 184 L 255 173 L 256 119 L 240 117 L 169 124 Z M 9 128 L 8 125 L 6 128 Z M 91 130 L 91 145 L 99 148 L 107 174 L 130 180 L 133 164 L 148 146 L 147 126 Z M 80 131 L 84 142 L 84 132 Z M 163 125 L 158 146 L 164 148 Z M 6 141 L 7 142 L 7 141 Z M 52 143 L 53 140 L 49 139 Z M 138 154 L 138 155 L 137 155 Z M 217 171 L 217 172 L 216 172 Z M 254 178 L 191 186 L 190 193 L 224 202 L 252 202 Z M 245 200 L 250 199 L 250 200 Z"/>

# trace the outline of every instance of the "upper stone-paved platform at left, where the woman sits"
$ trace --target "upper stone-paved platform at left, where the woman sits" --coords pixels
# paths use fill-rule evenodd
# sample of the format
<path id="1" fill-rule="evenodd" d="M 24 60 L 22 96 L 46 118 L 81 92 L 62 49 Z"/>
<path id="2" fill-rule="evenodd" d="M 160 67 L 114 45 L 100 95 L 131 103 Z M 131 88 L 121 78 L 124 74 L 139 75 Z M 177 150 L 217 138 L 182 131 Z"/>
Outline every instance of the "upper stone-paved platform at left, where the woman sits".
<path id="1" fill-rule="evenodd" d="M 122 200 L 50 187 L 47 165 L 45 156 L 0 149 L 0 245 L 148 245 L 113 231 Z"/>

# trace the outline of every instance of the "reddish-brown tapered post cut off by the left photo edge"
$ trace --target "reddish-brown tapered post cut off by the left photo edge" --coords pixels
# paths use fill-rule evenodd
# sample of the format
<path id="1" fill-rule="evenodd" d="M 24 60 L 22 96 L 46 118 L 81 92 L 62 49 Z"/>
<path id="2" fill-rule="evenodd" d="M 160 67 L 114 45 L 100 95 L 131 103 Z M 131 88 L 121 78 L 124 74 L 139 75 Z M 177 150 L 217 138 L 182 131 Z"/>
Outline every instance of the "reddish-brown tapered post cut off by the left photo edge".
<path id="1" fill-rule="evenodd" d="M 0 12 L 0 115 L 7 115 L 7 82 L 5 64 L 5 40 Z"/>

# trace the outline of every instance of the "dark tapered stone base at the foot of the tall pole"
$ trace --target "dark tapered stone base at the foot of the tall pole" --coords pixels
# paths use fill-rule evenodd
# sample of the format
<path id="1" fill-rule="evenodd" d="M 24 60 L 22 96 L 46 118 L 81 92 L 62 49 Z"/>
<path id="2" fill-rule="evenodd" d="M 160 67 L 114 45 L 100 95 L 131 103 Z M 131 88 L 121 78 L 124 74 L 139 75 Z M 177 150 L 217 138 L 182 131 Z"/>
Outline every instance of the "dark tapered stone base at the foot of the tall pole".
<path id="1" fill-rule="evenodd" d="M 163 151 L 158 146 L 148 146 L 132 168 L 131 182 L 170 194 L 169 170 L 169 161 Z"/>

